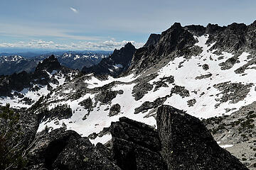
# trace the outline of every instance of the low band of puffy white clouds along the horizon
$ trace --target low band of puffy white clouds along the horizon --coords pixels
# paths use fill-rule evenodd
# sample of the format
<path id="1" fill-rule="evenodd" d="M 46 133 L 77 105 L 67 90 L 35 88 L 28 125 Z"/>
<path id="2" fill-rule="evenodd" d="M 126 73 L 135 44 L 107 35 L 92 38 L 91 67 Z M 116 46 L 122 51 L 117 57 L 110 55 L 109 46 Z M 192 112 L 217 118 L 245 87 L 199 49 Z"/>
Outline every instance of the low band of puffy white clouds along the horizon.
<path id="1" fill-rule="evenodd" d="M 144 45 L 142 42 L 134 41 L 100 41 L 100 42 L 77 42 L 70 44 L 58 44 L 53 41 L 44 41 L 44 40 L 31 40 L 29 42 L 14 42 L 0 43 L 0 47 L 20 47 L 20 48 L 38 48 L 38 49 L 55 49 L 55 50 L 114 50 L 115 48 L 119 49 L 123 47 L 127 42 L 132 42 L 132 44 L 139 48 Z"/>

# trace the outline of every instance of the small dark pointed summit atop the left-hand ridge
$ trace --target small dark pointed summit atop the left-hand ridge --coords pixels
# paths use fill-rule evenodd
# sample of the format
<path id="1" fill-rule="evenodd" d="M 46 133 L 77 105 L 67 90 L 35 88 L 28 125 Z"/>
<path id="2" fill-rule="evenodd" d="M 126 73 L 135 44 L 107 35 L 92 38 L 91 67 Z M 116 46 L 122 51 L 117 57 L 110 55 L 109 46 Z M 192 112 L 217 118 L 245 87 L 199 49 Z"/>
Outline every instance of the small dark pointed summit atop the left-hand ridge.
<path id="1" fill-rule="evenodd" d="M 43 62 L 39 62 L 36 67 L 35 72 L 46 70 L 48 72 L 53 72 L 53 70 L 61 69 L 60 62 L 58 62 L 57 58 L 54 55 L 43 60 Z"/>

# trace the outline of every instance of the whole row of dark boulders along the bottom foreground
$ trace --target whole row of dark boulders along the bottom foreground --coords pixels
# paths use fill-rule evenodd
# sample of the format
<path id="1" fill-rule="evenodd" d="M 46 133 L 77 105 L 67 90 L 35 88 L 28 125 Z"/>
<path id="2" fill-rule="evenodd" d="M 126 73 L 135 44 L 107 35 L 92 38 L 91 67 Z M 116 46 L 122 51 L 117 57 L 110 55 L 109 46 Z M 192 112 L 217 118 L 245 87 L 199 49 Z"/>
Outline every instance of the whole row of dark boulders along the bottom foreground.
<path id="1" fill-rule="evenodd" d="M 80 137 L 72 130 L 60 128 L 48 132 L 46 129 L 36 135 L 28 149 L 27 167 L 247 169 L 238 159 L 218 146 L 197 118 L 171 106 L 161 106 L 157 113 L 158 130 L 129 118 L 119 118 L 119 121 L 110 125 L 112 140 L 106 145 L 98 143 L 94 146 L 87 137 Z M 184 125 L 186 128 L 183 128 Z M 179 152 L 183 154 L 178 154 Z"/>

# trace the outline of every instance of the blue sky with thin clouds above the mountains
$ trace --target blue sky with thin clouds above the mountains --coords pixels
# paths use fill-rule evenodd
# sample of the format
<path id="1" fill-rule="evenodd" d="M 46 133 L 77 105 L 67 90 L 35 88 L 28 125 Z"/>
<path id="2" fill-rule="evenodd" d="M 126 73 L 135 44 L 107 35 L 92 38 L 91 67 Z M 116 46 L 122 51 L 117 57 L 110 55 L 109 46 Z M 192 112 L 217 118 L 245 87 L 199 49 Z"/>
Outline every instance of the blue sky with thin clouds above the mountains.
<path id="1" fill-rule="evenodd" d="M 0 47 L 113 50 L 174 22 L 183 26 L 255 21 L 256 1 L 1 0 Z"/>

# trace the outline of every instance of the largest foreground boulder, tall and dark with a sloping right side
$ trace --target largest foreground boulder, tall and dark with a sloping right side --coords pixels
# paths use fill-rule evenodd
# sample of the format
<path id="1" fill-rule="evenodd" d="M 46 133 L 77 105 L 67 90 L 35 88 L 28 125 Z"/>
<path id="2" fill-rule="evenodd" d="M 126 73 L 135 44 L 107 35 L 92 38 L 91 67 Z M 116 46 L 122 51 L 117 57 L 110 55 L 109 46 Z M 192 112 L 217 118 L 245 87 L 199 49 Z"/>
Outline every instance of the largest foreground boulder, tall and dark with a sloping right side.
<path id="1" fill-rule="evenodd" d="M 169 170 L 247 169 L 218 146 L 203 123 L 171 106 L 157 111 L 161 156 Z"/>

